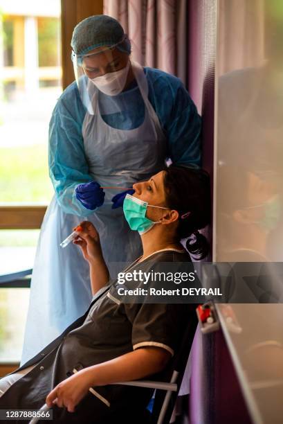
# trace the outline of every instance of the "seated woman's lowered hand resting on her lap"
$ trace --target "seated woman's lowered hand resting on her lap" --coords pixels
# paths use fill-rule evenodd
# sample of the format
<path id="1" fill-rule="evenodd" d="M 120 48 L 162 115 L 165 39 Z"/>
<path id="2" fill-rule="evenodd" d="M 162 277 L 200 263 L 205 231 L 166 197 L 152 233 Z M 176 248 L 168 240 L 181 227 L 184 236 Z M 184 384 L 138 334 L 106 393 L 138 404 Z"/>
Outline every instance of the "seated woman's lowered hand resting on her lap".
<path id="1" fill-rule="evenodd" d="M 59 383 L 46 397 L 46 404 L 52 407 L 55 403 L 58 407 L 66 407 L 69 412 L 75 411 L 75 406 L 86 396 L 91 387 L 89 370 L 82 369 L 73 376 Z"/>

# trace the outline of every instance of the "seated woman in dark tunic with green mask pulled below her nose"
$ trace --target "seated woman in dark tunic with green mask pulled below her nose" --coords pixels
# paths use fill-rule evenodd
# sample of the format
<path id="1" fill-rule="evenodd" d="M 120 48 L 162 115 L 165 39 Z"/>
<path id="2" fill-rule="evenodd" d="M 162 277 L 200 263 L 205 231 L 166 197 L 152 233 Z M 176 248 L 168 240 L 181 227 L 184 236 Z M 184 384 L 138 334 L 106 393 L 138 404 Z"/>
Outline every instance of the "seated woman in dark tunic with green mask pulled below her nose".
<path id="1" fill-rule="evenodd" d="M 194 234 L 188 244 L 192 251 L 196 246 L 201 251 L 206 242 L 197 230 L 210 218 L 208 175 L 170 166 L 133 188 L 124 212 L 131 229 L 140 233 L 143 256 L 127 270 L 190 264 L 180 240 Z M 138 415 L 152 390 L 109 384 L 163 371 L 194 310 L 178 303 L 118 301 L 111 295 L 118 281 L 109 283 L 99 235 L 91 222 L 81 227 L 75 244 L 89 262 L 91 306 L 42 352 L 0 380 L 0 409 L 39 409 L 46 402 L 58 423 L 127 423 L 129 409 Z"/>

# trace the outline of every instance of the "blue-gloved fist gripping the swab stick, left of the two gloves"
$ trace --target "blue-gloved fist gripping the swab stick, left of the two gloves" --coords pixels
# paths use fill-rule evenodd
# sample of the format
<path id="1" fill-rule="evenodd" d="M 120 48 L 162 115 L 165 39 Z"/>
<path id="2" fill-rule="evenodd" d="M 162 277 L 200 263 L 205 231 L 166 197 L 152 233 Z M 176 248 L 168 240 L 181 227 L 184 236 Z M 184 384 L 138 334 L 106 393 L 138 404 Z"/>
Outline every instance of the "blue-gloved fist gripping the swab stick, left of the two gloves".
<path id="1" fill-rule="evenodd" d="M 75 197 L 86 209 L 96 209 L 101 206 L 104 202 L 104 196 L 104 191 L 95 181 L 79 184 L 75 188 Z"/>

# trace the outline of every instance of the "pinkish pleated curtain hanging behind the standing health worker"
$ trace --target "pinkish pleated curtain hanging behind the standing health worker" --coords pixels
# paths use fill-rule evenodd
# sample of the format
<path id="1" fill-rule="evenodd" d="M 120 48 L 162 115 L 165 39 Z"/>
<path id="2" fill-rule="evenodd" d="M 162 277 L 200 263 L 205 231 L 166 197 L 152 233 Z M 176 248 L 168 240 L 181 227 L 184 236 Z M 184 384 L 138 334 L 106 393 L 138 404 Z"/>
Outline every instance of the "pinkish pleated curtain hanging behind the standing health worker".
<path id="1" fill-rule="evenodd" d="M 104 0 L 129 35 L 132 58 L 188 83 L 188 0 Z"/>

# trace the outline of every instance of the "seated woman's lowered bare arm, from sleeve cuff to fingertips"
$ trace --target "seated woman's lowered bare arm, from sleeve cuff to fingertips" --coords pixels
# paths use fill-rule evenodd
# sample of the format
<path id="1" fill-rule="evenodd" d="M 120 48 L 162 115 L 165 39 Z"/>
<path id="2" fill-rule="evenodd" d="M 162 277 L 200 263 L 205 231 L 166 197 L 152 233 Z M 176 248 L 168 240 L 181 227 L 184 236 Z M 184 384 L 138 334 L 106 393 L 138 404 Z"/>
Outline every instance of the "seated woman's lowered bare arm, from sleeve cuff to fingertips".
<path id="1" fill-rule="evenodd" d="M 56 399 L 59 407 L 65 406 L 69 412 L 74 412 L 75 405 L 90 387 L 151 376 L 162 371 L 170 357 L 170 353 L 163 348 L 147 347 L 89 366 L 60 382 L 46 397 L 46 404 L 51 407 Z"/>

